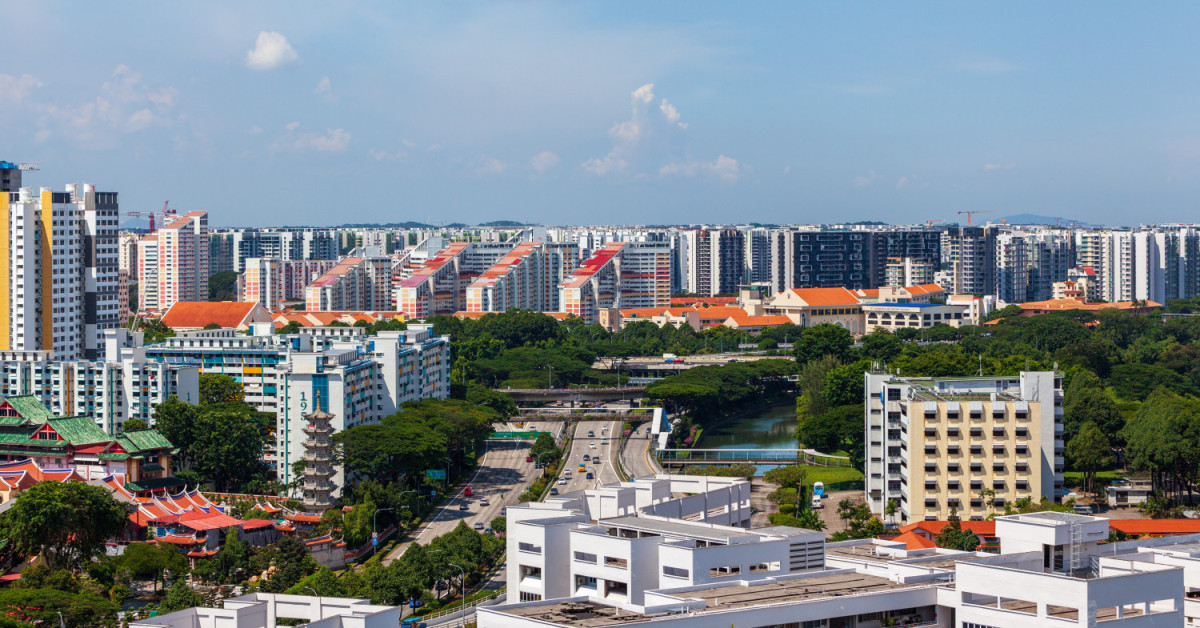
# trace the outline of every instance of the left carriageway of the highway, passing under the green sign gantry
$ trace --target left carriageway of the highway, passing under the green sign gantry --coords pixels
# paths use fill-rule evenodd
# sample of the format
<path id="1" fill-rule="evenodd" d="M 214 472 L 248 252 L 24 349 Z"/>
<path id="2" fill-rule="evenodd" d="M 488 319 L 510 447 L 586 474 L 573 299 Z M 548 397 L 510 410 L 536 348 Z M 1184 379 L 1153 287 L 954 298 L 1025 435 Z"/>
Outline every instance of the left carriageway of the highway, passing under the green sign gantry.
<path id="1" fill-rule="evenodd" d="M 562 424 L 557 423 L 526 423 L 522 431 L 548 430 L 557 433 Z M 516 431 L 515 425 L 497 425 L 497 431 Z M 586 432 L 584 432 L 586 433 Z M 533 462 L 527 462 L 529 448 L 533 441 L 488 441 L 487 451 L 480 457 L 479 467 L 467 486 L 470 486 L 473 495 L 467 497 L 463 491 L 458 491 L 452 498 L 433 515 L 428 522 L 422 524 L 415 532 L 394 549 L 385 558 L 384 564 L 404 554 L 409 543 L 430 540 L 445 534 L 466 521 L 474 527 L 476 522 L 490 527 L 492 520 L 504 512 L 504 508 L 517 503 L 521 492 L 536 477 Z M 481 506 L 480 501 L 486 498 L 488 506 Z M 467 510 L 460 510 L 458 506 L 467 503 Z"/>

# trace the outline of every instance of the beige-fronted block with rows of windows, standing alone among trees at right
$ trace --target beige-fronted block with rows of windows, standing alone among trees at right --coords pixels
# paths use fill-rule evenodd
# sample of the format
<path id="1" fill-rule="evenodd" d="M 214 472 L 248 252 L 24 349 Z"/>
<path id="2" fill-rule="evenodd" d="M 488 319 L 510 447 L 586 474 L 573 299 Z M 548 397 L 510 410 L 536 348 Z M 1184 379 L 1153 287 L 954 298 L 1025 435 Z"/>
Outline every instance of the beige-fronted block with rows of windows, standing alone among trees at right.
<path id="1" fill-rule="evenodd" d="M 1062 377 L 917 378 L 865 373 L 865 486 L 896 521 L 1003 513 L 1062 494 Z"/>

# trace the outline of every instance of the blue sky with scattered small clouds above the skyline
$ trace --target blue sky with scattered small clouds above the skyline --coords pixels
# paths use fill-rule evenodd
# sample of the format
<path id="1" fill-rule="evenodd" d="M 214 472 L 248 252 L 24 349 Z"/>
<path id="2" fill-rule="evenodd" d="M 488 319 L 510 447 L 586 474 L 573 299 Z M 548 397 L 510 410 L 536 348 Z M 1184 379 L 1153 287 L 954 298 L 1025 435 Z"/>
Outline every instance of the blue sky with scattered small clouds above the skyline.
<path id="1" fill-rule="evenodd" d="M 1200 197 L 1195 4 L 5 7 L 0 159 L 218 226 L 1130 225 Z"/>

